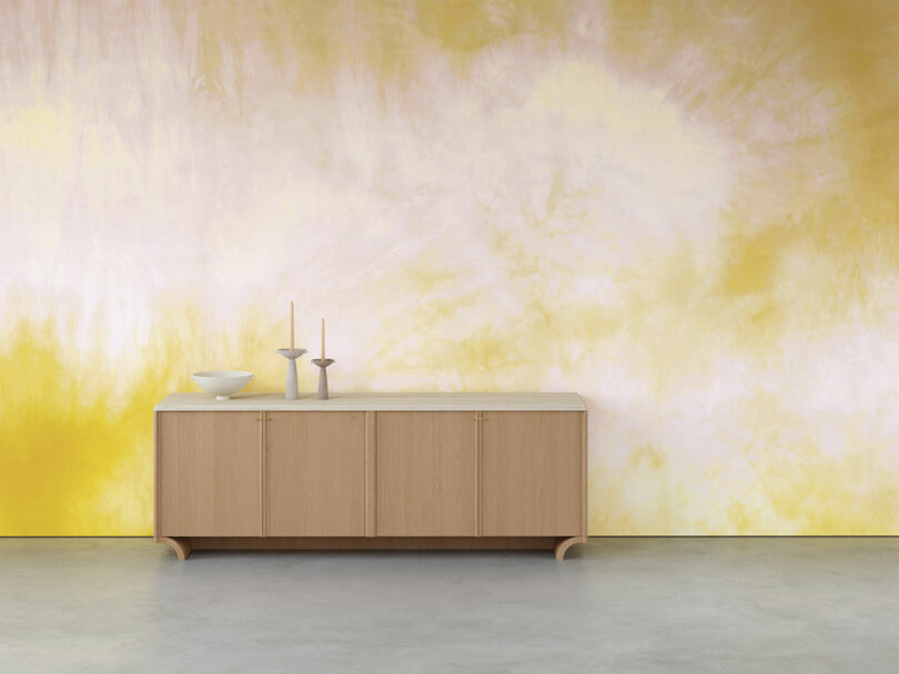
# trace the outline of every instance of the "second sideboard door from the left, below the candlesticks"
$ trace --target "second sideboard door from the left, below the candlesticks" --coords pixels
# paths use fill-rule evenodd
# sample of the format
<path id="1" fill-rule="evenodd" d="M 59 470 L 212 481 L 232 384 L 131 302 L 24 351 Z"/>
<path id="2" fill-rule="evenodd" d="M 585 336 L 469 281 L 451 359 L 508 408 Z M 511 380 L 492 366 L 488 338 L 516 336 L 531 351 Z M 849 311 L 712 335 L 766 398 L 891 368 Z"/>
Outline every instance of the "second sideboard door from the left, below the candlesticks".
<path id="1" fill-rule="evenodd" d="M 265 535 L 365 535 L 365 412 L 267 412 Z"/>

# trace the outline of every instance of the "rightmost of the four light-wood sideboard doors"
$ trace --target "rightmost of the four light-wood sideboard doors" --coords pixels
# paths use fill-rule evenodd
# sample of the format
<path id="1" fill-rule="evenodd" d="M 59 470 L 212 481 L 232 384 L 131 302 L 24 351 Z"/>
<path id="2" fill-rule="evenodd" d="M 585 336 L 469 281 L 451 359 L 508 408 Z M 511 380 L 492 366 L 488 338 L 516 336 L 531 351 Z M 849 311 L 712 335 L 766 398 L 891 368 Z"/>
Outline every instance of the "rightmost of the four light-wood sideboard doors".
<path id="1" fill-rule="evenodd" d="M 582 413 L 483 413 L 483 535 L 580 533 Z"/>

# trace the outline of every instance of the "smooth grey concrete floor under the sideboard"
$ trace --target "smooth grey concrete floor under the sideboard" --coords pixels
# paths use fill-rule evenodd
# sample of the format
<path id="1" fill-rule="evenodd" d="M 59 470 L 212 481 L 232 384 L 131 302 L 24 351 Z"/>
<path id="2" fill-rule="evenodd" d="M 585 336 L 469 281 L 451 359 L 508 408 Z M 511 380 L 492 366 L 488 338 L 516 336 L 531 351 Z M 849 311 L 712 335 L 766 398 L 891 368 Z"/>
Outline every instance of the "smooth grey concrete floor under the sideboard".
<path id="1" fill-rule="evenodd" d="M 194 552 L 0 539 L 0 672 L 896 672 L 899 539 Z"/>

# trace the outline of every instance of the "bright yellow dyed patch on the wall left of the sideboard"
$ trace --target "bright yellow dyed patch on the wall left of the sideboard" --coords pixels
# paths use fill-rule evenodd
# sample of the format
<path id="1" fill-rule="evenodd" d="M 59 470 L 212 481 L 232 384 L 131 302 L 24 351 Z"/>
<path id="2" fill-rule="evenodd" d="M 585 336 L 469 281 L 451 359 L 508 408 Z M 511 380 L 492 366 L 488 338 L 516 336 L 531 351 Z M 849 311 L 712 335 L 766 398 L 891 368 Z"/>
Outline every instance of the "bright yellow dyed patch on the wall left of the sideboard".
<path id="1" fill-rule="evenodd" d="M 152 532 L 152 407 L 160 375 L 124 399 L 99 358 L 73 364 L 49 324 L 21 321 L 0 355 L 0 531 Z M 94 370 L 94 366 L 101 366 Z M 163 385 L 164 386 L 164 385 Z"/>

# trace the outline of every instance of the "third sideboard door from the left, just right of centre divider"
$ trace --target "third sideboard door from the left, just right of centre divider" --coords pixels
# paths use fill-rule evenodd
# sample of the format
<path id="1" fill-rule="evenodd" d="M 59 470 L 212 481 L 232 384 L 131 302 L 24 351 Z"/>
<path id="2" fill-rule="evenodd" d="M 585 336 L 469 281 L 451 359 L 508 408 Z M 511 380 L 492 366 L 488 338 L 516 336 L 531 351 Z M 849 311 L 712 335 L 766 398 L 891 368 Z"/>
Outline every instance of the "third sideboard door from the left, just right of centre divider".
<path id="1" fill-rule="evenodd" d="M 474 412 L 377 412 L 377 535 L 475 535 Z"/>

